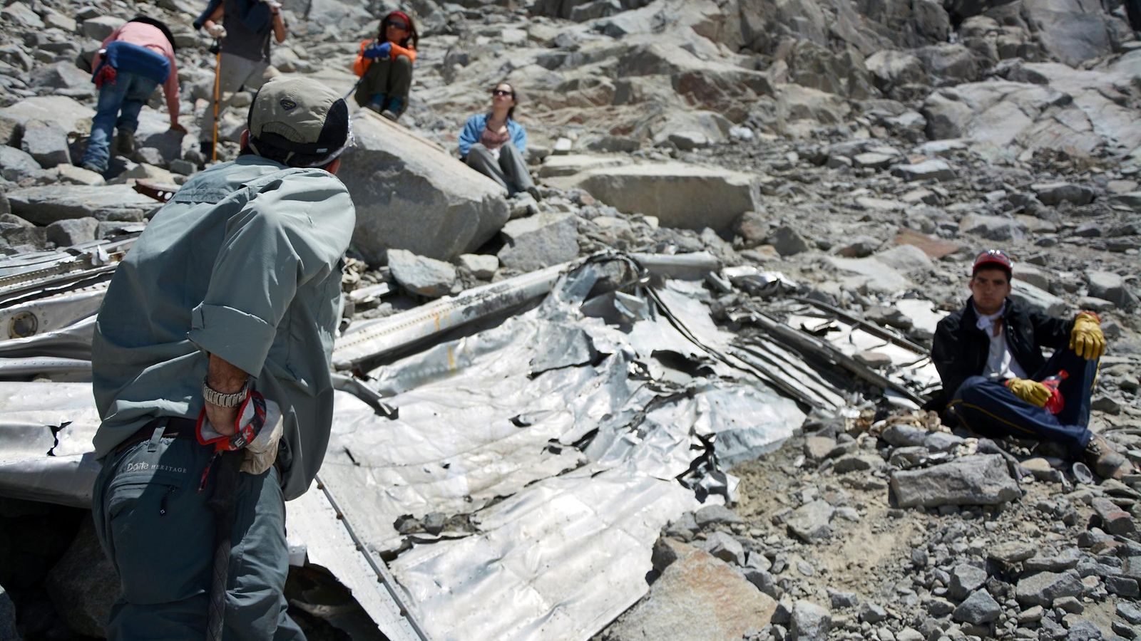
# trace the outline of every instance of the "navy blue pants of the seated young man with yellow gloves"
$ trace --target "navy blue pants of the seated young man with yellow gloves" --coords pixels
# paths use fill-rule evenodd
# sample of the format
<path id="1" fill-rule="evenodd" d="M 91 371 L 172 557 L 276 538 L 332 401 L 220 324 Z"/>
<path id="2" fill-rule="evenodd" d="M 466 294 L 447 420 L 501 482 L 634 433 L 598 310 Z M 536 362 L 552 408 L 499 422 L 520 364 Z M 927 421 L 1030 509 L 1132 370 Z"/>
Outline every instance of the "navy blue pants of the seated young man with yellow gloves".
<path id="1" fill-rule="evenodd" d="M 1090 443 L 1090 398 L 1098 374 L 1098 362 L 1086 360 L 1069 348 L 1059 349 L 1031 376 L 1041 381 L 1066 371 L 1068 378 L 1058 390 L 1066 400 L 1060 413 L 1051 414 L 1014 396 L 1001 381 L 971 376 L 955 391 L 948 404 L 963 427 L 982 435 L 1013 436 L 1051 440 L 1076 456 Z"/>

